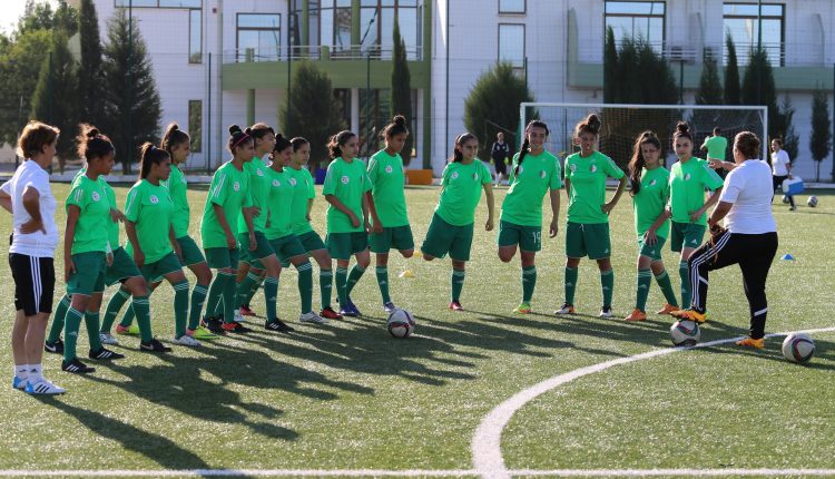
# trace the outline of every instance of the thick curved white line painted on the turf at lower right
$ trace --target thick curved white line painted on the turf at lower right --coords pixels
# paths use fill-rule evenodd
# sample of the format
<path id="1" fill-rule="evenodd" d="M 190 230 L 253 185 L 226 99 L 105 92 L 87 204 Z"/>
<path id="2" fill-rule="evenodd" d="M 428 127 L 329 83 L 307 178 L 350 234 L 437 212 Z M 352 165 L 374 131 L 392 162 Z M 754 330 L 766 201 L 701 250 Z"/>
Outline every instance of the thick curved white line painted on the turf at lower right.
<path id="1" fill-rule="evenodd" d="M 812 333 L 826 333 L 826 332 L 833 332 L 833 331 L 835 331 L 835 328 L 821 328 L 816 330 L 793 331 L 793 332 L 787 332 L 787 333 L 768 334 L 766 338 L 785 336 L 792 333 L 812 334 Z M 628 364 L 631 362 L 657 358 L 657 356 L 661 356 L 666 354 L 671 354 L 671 353 L 679 352 L 679 351 L 689 351 L 689 350 L 699 349 L 699 348 L 710 348 L 710 346 L 716 346 L 720 344 L 727 344 L 734 341 L 738 341 L 741 338 L 731 338 L 731 339 L 716 340 L 716 341 L 710 341 L 706 343 L 700 343 L 695 346 L 652 350 L 652 351 L 648 351 L 641 354 L 636 354 L 636 355 L 631 355 L 627 358 L 618 358 L 611 361 L 601 362 L 599 364 L 592 364 L 586 368 L 580 368 L 570 372 L 567 372 L 564 374 L 560 374 L 551 379 L 547 379 L 538 384 L 534 384 L 525 389 L 524 391 L 521 391 L 514 394 L 512 398 L 508 399 L 507 401 L 502 402 L 501 404 L 495 407 L 492 411 L 490 411 L 490 413 L 487 417 L 484 417 L 484 419 L 482 419 L 481 423 L 479 424 L 479 428 L 475 430 L 475 434 L 473 436 L 471 448 L 470 448 L 472 451 L 473 467 L 479 476 L 483 478 L 491 478 L 491 479 L 510 478 L 511 476 L 514 476 L 517 472 L 519 472 L 519 471 L 510 471 L 504 466 L 504 458 L 502 457 L 502 450 L 501 450 L 502 431 L 508 426 L 508 423 L 510 422 L 510 419 L 513 417 L 513 414 L 515 414 L 517 411 L 522 409 L 529 402 L 537 399 L 540 394 L 543 394 L 548 391 L 559 388 L 560 385 L 571 382 L 578 378 L 582 378 L 584 375 L 606 371 L 607 369 L 613 368 L 616 365 Z M 558 471 L 559 470 L 550 471 L 551 472 L 550 475 L 561 476 L 558 473 Z M 570 472 L 570 470 L 564 470 L 564 471 Z M 642 472 L 642 473 L 636 473 L 633 476 L 654 476 L 652 473 L 650 473 L 651 471 L 652 470 L 636 470 L 635 472 Z M 691 473 L 685 473 L 684 476 L 699 476 L 698 471 L 700 470 L 692 469 L 689 471 Z M 703 470 L 703 471 L 709 472 L 714 470 Z M 582 473 L 579 473 L 580 471 L 577 471 L 577 472 L 578 473 L 574 476 L 593 476 L 593 473 L 589 473 L 589 472 L 592 472 L 591 470 L 581 471 Z M 602 471 L 602 472 L 603 473 L 601 473 L 601 476 L 619 476 L 617 473 L 617 470 Z M 833 471 L 829 471 L 829 472 L 833 472 Z M 529 471 L 529 473 L 523 473 L 522 476 L 533 476 L 533 475 L 536 475 L 534 471 Z M 670 473 L 667 472 L 665 475 L 670 475 Z M 676 473 L 672 473 L 672 476 L 676 476 Z M 682 476 L 682 475 L 678 475 L 678 476 Z"/>

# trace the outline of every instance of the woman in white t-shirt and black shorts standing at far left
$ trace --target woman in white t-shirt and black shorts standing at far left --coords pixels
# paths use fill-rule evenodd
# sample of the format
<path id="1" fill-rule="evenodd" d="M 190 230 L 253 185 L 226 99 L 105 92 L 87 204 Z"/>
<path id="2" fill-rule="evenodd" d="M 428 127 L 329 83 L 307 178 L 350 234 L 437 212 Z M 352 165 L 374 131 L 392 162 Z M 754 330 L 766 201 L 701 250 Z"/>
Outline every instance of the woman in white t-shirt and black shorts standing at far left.
<path id="1" fill-rule="evenodd" d="M 9 266 L 14 280 L 14 325 L 11 349 L 14 375 L 11 385 L 30 394 L 61 394 L 66 389 L 43 378 L 43 334 L 52 312 L 55 248 L 58 227 L 56 201 L 49 185 L 59 130 L 30 121 L 18 139 L 23 163 L 0 187 L 0 206 L 12 214 Z"/>

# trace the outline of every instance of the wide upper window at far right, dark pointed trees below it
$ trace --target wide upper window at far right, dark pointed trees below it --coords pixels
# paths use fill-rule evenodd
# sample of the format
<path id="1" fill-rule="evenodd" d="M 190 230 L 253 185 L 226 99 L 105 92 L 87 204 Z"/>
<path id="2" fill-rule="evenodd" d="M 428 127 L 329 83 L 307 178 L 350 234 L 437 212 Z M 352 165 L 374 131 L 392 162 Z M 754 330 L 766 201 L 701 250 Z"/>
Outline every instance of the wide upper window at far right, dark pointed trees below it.
<path id="1" fill-rule="evenodd" d="M 784 65 L 783 41 L 785 39 L 785 7 L 783 4 L 763 3 L 759 14 L 757 3 L 725 3 L 723 6 L 724 31 L 730 35 L 736 46 L 739 65 L 748 63 L 748 51 L 757 48 L 759 26 L 763 25 L 763 49 L 775 67 Z M 725 58 L 727 45 L 723 41 Z"/>

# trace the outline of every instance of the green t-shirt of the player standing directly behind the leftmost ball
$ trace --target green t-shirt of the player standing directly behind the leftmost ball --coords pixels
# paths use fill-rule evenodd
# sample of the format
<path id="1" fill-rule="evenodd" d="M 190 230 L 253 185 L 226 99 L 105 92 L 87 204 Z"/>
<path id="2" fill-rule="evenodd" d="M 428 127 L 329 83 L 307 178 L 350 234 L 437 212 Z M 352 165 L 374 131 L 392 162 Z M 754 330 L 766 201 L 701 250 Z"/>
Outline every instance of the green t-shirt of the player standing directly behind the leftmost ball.
<path id="1" fill-rule="evenodd" d="M 403 190 L 406 175 L 400 154 L 389 155 L 381 149 L 369 162 L 369 178 L 374 184 L 371 190 L 374 208 L 384 227 L 406 226 L 406 195 Z"/>

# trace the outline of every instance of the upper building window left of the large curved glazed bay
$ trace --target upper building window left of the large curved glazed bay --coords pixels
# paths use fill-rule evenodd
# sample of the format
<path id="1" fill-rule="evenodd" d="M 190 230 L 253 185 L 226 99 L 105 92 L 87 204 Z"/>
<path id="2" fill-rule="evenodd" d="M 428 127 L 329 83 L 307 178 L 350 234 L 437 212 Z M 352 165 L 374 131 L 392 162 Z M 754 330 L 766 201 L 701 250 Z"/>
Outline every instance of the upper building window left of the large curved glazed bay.
<path id="1" fill-rule="evenodd" d="M 282 16 L 278 13 L 238 13 L 237 59 L 246 60 L 253 50 L 253 61 L 278 60 L 282 47 Z"/>

